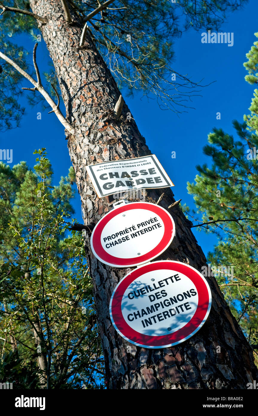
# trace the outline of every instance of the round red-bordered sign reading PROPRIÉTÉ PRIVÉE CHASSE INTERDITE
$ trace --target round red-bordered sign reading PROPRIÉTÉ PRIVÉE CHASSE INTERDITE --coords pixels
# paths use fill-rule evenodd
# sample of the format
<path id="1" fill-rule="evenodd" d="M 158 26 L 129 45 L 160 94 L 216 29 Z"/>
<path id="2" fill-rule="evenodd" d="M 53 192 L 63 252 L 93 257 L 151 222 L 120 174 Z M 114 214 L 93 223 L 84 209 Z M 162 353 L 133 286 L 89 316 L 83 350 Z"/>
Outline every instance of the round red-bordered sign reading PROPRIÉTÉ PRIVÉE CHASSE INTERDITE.
<path id="1" fill-rule="evenodd" d="M 107 265 L 138 266 L 170 245 L 174 220 L 164 208 L 150 202 L 122 203 L 98 221 L 91 235 L 91 249 Z"/>

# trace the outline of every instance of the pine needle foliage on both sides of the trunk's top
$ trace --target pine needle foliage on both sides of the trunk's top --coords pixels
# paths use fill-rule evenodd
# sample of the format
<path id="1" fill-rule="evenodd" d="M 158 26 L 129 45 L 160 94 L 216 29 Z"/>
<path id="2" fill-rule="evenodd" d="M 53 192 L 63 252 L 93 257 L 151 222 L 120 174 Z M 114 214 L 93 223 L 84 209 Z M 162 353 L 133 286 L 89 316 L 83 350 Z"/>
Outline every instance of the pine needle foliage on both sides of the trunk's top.
<path id="1" fill-rule="evenodd" d="M 177 0 L 175 3 L 170 0 L 117 0 L 115 5 L 110 4 L 88 22 L 87 32 L 106 59 L 119 87 L 127 88 L 128 94 L 140 89 L 147 97 L 157 99 L 162 109 L 182 112 L 181 108 L 187 107 L 187 102 L 199 92 L 196 88 L 202 86 L 176 71 L 173 52 L 175 39 L 189 28 L 218 29 L 225 20 L 226 12 L 236 10 L 246 1 Z M 29 10 L 29 2 L 23 0 L 10 0 L 5 4 Z M 84 19 L 98 7 L 99 2 L 68 0 L 68 4 L 81 20 L 81 25 L 84 25 Z M 37 22 L 30 16 L 6 11 L 0 17 L 0 25 L 0 50 L 19 63 L 20 54 L 23 54 L 24 59 L 27 52 L 23 47 L 12 45 L 10 38 L 27 33 L 36 40 Z M 23 60 L 23 65 L 27 72 L 33 71 L 33 75 L 31 64 L 32 51 Z M 24 112 L 13 99 L 21 93 L 22 77 L 4 61 L 0 65 L 3 69 L 0 90 L 4 94 L 0 104 L 0 120 L 5 130 L 17 126 Z M 176 79 L 172 74 L 176 75 Z M 54 96 L 50 84 L 54 82 L 57 86 L 56 71 L 51 68 L 45 76 L 46 88 Z M 27 94 L 27 97 L 32 105 L 42 102 L 42 97 L 37 93 Z"/>

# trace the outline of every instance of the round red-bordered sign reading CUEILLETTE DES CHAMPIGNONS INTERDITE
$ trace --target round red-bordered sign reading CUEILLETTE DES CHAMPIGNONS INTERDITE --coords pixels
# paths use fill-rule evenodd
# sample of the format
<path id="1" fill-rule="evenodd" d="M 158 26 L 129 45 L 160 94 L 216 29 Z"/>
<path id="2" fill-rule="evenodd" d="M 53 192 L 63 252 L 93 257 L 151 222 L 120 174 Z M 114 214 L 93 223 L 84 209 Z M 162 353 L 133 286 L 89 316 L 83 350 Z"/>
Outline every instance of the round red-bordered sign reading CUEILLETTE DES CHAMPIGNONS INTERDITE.
<path id="1" fill-rule="evenodd" d="M 132 344 L 164 348 L 192 337 L 211 309 L 203 275 L 185 263 L 162 260 L 137 267 L 115 287 L 110 316 Z"/>

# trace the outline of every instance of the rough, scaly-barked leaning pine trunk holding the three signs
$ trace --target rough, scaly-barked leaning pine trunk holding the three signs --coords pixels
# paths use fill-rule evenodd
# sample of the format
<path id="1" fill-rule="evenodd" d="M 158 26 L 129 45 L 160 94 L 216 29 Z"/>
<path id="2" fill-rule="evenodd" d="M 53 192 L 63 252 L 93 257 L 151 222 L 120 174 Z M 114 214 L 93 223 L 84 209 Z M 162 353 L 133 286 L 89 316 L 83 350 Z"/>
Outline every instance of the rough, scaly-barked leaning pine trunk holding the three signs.
<path id="1" fill-rule="evenodd" d="M 76 129 L 76 134 L 67 134 L 67 138 L 84 222 L 94 224 L 111 206 L 108 198 L 97 198 L 86 165 L 145 156 L 150 150 L 135 121 L 126 119 L 129 112 L 126 104 L 118 120 L 108 116 L 120 92 L 87 34 L 84 47 L 79 47 L 83 23 L 72 10 L 72 22 L 67 23 L 60 1 L 30 0 L 30 5 L 34 13 L 48 19 L 46 24 L 39 22 L 39 29 L 57 71 L 67 119 Z M 157 201 L 163 191 L 160 205 L 167 208 L 174 202 L 168 188 L 148 191 L 146 200 Z M 178 260 L 201 270 L 206 259 L 192 234 L 191 223 L 179 206 L 171 208 L 170 213 L 176 224 L 176 236 L 160 259 Z M 99 262 L 91 253 L 89 238 L 88 235 L 86 255 L 94 282 L 107 388 L 246 389 L 248 382 L 257 379 L 251 348 L 213 277 L 207 277 L 212 292 L 209 318 L 187 342 L 151 350 L 135 347 L 121 338 L 111 324 L 108 306 L 113 289 L 130 269 L 116 269 Z"/>

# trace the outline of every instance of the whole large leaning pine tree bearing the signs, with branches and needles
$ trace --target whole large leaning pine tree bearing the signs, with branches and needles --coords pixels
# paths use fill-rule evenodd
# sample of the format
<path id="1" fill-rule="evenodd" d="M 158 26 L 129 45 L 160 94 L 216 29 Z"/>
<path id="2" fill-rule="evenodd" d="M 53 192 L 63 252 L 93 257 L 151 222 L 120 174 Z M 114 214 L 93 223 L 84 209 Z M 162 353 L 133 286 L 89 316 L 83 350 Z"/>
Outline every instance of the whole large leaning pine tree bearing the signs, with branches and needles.
<path id="1" fill-rule="evenodd" d="M 11 61 L 7 54 L 0 53 L 5 62 L 29 79 L 32 94 L 37 90 L 44 96 L 66 128 L 84 223 L 89 226 L 87 230 L 108 212 L 112 201 L 97 198 L 87 177 L 86 165 L 150 154 L 130 110 L 120 98 L 112 74 L 125 82 L 129 89 L 141 88 L 146 94 L 156 94 L 160 105 L 163 103 L 180 111 L 180 107 L 177 110 L 177 104 L 182 104 L 181 100 L 185 96 L 189 97 L 189 93 L 184 91 L 189 91 L 190 88 L 193 92 L 198 84 L 180 76 L 171 66 L 173 56 L 168 42 L 172 42 L 174 36 L 182 30 L 177 24 L 177 12 L 187 10 L 185 29 L 189 26 L 209 28 L 210 25 L 219 25 L 225 10 L 236 5 L 236 2 L 226 1 L 225 10 L 222 10 L 221 2 L 216 0 L 205 4 L 201 1 L 192 3 L 182 0 L 178 2 L 178 8 L 167 0 L 155 0 L 151 4 L 147 0 L 111 2 L 108 0 L 101 5 L 89 0 L 82 5 L 78 1 L 66 0 L 29 1 L 28 6 L 52 57 L 66 108 L 66 118 L 42 87 L 36 64 L 36 47 L 34 67 L 37 80 L 29 77 L 29 69 L 23 72 L 13 62 L 15 59 Z M 17 4 L 22 7 L 22 2 Z M 218 17 L 214 17 L 214 11 Z M 25 30 L 33 29 L 35 26 L 31 17 L 28 17 L 28 11 L 23 13 L 27 14 L 28 19 Z M 17 32 L 21 30 L 19 22 L 25 21 L 24 16 L 20 17 L 7 9 L 3 16 L 5 28 L 16 27 Z M 6 50 L 12 50 L 12 46 L 6 40 L 5 42 Z M 14 54 L 14 51 L 15 48 L 11 53 Z M 105 56 L 107 62 L 104 61 Z M 19 57 L 17 62 L 20 62 Z M 10 66 L 3 65 L 8 79 Z M 171 73 L 176 75 L 176 83 L 167 81 L 168 73 L 169 79 L 174 78 Z M 54 82 L 52 86 L 59 103 L 59 92 Z M 174 89 L 176 95 L 171 94 L 170 88 Z M 119 108 L 116 107 L 119 111 L 114 112 L 117 102 L 120 102 Z M 16 114 L 19 119 L 18 110 Z M 146 199 L 150 202 L 158 201 L 161 193 L 159 190 L 148 191 Z M 206 259 L 190 230 L 191 223 L 184 217 L 179 204 L 174 202 L 172 192 L 166 189 L 160 205 L 164 208 L 171 206 L 177 235 L 160 258 L 189 263 L 201 270 Z M 207 277 L 213 295 L 209 320 L 194 337 L 182 345 L 161 350 L 128 344 L 111 325 L 108 308 L 115 285 L 128 269 L 117 270 L 99 262 L 91 253 L 89 239 L 88 231 L 85 250 L 93 279 L 107 388 L 244 389 L 248 381 L 257 377 L 251 348 L 212 277 Z"/>

